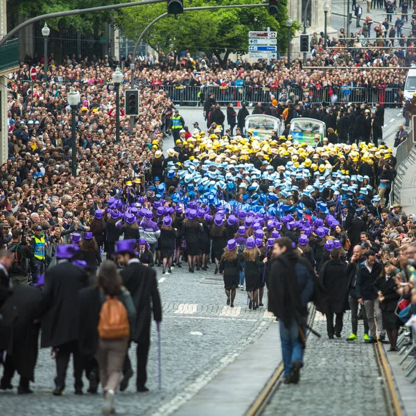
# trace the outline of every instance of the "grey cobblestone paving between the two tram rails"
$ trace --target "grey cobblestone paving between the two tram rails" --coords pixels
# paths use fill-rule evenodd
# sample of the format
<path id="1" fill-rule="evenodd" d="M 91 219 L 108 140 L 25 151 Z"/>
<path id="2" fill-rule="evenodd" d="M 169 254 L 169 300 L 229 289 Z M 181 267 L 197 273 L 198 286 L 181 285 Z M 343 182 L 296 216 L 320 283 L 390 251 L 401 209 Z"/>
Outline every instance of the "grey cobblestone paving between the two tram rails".
<path id="1" fill-rule="evenodd" d="M 320 314 L 315 315 L 313 329 L 322 338 L 308 338 L 300 383 L 281 384 L 262 416 L 388 415 L 374 345 L 364 343 L 362 324 L 356 343 L 345 340 L 351 330 L 349 313 L 343 338 L 329 340 Z"/>

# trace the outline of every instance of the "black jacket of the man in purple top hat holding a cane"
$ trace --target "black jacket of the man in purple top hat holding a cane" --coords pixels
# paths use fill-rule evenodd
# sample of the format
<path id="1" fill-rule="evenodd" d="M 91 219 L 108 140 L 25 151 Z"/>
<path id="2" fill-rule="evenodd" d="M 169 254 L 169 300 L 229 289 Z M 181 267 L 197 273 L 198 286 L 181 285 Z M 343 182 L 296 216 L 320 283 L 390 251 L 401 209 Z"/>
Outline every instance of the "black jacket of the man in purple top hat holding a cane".
<path id="1" fill-rule="evenodd" d="M 137 310 L 135 331 L 131 338 L 140 343 L 142 337 L 148 333 L 150 327 L 151 311 L 156 322 L 162 321 L 162 304 L 157 290 L 156 272 L 153 268 L 143 266 L 141 263 L 130 263 L 120 272 L 123 278 L 123 286 L 132 295 L 133 303 Z"/>

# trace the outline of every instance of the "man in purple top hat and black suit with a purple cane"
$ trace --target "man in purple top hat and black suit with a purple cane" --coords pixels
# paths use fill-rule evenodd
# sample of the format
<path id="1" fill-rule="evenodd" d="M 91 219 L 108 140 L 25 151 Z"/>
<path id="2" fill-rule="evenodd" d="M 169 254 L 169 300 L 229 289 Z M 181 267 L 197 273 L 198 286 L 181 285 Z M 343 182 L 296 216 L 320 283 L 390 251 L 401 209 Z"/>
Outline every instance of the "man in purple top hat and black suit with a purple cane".
<path id="1" fill-rule="evenodd" d="M 116 243 L 116 259 L 124 266 L 120 274 L 123 285 L 132 295 L 137 310 L 136 327 L 132 330 L 131 339 L 137 343 L 137 391 L 147 392 L 146 365 L 150 347 L 150 319 L 153 310 L 153 319 L 159 324 L 162 321 L 162 305 L 159 291 L 157 290 L 156 272 L 153 268 L 144 266 L 139 262 L 135 254 L 135 241 L 123 240 Z M 123 380 L 120 390 L 128 386 L 132 377 L 132 365 L 128 354 L 125 357 L 123 367 Z"/>

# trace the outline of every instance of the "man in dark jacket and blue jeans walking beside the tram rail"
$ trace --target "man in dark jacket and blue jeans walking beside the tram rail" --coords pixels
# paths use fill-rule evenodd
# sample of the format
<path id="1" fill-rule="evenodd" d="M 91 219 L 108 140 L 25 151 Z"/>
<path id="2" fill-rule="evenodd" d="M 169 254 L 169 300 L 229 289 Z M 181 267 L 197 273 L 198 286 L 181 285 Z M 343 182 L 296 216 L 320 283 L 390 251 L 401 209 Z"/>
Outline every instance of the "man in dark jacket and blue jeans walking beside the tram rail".
<path id="1" fill-rule="evenodd" d="M 315 272 L 300 257 L 288 237 L 275 240 L 268 287 L 268 311 L 279 319 L 285 383 L 297 384 L 304 365 L 307 304 L 311 300 Z M 293 276 L 296 279 L 293 279 Z"/>

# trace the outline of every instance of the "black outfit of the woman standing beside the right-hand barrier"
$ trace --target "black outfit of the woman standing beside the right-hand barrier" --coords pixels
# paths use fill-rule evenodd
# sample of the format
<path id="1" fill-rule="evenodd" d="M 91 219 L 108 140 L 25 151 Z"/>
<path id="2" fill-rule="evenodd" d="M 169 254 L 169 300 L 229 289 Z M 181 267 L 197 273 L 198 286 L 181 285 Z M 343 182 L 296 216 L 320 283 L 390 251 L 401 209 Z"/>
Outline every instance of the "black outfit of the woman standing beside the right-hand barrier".
<path id="1" fill-rule="evenodd" d="M 380 302 L 383 329 L 398 329 L 401 327 L 401 321 L 396 316 L 395 310 L 400 296 L 396 293 L 395 280 L 393 277 L 386 280 L 385 277 L 380 276 L 374 281 L 374 287 L 384 296 L 383 302 Z"/>

